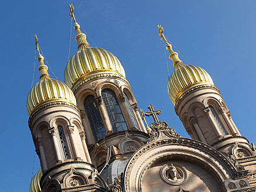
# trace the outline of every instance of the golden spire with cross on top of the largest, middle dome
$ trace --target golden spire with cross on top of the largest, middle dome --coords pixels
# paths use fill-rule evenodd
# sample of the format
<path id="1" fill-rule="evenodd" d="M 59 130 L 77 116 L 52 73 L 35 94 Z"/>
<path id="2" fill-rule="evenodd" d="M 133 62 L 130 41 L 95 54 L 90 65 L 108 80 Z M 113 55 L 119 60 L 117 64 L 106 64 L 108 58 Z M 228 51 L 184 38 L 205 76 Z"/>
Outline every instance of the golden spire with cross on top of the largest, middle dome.
<path id="1" fill-rule="evenodd" d="M 77 49 L 81 50 L 81 49 L 86 49 L 88 47 L 90 47 L 90 44 L 87 42 L 86 40 L 86 34 L 82 33 L 80 30 L 80 25 L 78 25 L 78 23 L 76 22 L 76 18 L 74 17 L 74 6 L 72 4 L 69 4 L 69 9 L 70 9 L 70 18 L 71 20 L 74 20 L 74 30 L 76 30 L 76 41 L 77 41 Z"/>

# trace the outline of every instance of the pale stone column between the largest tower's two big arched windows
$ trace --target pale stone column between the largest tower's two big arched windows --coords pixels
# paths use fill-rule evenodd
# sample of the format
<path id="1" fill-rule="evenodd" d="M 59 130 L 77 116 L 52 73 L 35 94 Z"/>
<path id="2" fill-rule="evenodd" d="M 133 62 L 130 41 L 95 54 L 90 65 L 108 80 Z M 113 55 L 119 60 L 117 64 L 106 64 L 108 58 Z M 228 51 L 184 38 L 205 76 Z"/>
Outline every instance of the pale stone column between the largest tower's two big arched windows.
<path id="1" fill-rule="evenodd" d="M 107 135 L 110 135 L 113 132 L 112 131 L 112 125 L 111 125 L 111 122 L 110 122 L 110 118 L 108 118 L 107 110 L 103 105 L 103 100 L 102 100 L 101 96 L 96 97 L 95 101 L 97 102 L 98 109 L 100 111 L 101 118 L 103 119 L 103 124 L 104 124 L 104 127 L 106 129 Z"/>

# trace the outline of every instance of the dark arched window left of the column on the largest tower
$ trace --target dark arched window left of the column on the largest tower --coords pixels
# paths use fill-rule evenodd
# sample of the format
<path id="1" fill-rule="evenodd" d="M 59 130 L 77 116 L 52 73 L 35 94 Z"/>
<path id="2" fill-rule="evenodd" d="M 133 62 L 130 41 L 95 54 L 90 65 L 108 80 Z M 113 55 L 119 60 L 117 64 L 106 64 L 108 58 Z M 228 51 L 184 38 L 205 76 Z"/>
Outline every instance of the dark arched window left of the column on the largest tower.
<path id="1" fill-rule="evenodd" d="M 101 119 L 100 111 L 98 110 L 98 105 L 93 97 L 89 95 L 86 100 L 84 100 L 84 109 L 86 110 L 87 118 L 91 126 L 91 131 L 93 132 L 94 140 L 97 142 L 101 138 L 106 136 L 106 130 Z"/>

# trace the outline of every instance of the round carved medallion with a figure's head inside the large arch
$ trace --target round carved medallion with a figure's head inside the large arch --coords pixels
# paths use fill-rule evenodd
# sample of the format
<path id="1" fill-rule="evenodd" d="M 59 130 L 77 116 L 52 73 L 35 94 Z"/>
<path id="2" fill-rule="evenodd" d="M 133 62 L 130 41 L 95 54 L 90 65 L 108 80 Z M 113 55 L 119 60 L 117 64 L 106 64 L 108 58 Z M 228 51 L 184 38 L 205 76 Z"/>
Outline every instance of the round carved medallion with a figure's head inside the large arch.
<path id="1" fill-rule="evenodd" d="M 160 170 L 161 177 L 166 183 L 178 186 L 187 179 L 187 170 L 181 164 L 167 163 Z"/>

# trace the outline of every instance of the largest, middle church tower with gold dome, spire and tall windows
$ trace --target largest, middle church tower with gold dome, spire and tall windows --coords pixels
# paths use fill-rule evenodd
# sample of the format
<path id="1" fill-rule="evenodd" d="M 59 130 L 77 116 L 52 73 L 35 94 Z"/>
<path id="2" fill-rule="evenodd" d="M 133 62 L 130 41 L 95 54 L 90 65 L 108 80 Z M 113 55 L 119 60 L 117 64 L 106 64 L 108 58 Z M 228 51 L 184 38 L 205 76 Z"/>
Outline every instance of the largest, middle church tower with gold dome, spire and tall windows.
<path id="1" fill-rule="evenodd" d="M 112 184 L 132 153 L 146 143 L 148 133 L 120 61 L 107 50 L 90 46 L 73 11 L 70 5 L 78 51 L 67 61 L 64 83 L 81 111 L 91 162 Z"/>

